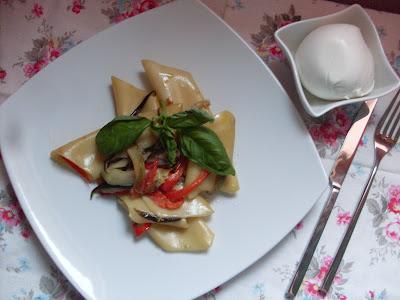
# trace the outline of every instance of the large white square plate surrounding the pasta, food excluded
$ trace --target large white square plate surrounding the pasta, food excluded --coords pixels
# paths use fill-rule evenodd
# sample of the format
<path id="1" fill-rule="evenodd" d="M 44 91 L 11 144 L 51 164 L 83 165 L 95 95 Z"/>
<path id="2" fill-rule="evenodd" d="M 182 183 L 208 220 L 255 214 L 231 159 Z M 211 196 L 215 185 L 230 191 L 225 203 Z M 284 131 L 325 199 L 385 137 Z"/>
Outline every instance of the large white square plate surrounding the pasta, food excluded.
<path id="1" fill-rule="evenodd" d="M 140 60 L 192 72 L 214 112 L 237 118 L 241 190 L 217 196 L 207 253 L 165 253 L 135 241 L 116 201 L 55 165 L 52 149 L 114 116 L 110 76 L 146 85 Z M 88 299 L 188 299 L 233 277 L 307 213 L 327 177 L 281 85 L 256 54 L 196 1 L 122 22 L 75 47 L 0 107 L 0 143 L 11 182 L 40 241 Z"/>

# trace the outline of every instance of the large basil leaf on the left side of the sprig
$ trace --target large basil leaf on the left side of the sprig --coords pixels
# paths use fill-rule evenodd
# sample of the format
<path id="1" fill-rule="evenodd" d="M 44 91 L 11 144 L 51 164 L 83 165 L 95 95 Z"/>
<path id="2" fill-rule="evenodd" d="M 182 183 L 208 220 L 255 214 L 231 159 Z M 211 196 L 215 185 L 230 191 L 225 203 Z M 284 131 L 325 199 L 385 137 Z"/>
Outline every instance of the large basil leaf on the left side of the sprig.
<path id="1" fill-rule="evenodd" d="M 96 144 L 100 153 L 108 156 L 131 146 L 151 121 L 146 118 L 120 116 L 106 124 L 96 135 Z"/>

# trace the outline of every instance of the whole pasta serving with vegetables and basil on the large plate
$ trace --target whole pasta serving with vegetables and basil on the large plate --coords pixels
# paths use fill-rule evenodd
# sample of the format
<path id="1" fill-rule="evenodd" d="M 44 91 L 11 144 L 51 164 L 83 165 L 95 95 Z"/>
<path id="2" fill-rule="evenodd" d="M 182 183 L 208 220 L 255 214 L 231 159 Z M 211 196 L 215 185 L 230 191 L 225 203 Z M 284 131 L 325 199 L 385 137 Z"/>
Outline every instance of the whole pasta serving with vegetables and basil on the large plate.
<path id="1" fill-rule="evenodd" d="M 169 252 L 205 251 L 214 239 L 209 196 L 239 189 L 235 118 L 214 115 L 190 73 L 142 64 L 153 90 L 112 76 L 116 117 L 51 158 L 98 183 L 91 197 L 116 196 L 137 237 L 147 234 Z"/>

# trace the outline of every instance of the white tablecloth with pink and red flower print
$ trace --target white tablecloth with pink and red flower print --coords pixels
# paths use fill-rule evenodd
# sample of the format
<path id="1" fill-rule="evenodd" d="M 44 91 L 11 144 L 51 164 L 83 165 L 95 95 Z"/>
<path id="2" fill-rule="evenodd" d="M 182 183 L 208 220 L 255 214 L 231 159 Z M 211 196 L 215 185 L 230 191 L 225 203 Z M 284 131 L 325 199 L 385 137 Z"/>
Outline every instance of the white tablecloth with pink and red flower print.
<path id="1" fill-rule="evenodd" d="M 0 0 L 0 103 L 75 45 L 126 18 L 167 2 L 171 1 Z M 289 68 L 274 41 L 274 31 L 291 22 L 344 8 L 322 0 L 203 2 L 256 50 L 281 80 L 295 104 Z M 400 15 L 367 12 L 378 29 L 393 68 L 400 74 Z M 332 261 L 366 183 L 373 160 L 374 127 L 391 96 L 378 102 L 298 299 L 319 299 L 317 286 Z M 357 109 L 357 105 L 346 106 L 319 119 L 307 117 L 301 111 L 327 172 Z M 293 155 L 296 155 L 295 149 Z M 284 192 L 282 199 L 289 203 L 296 201 L 285 199 Z M 282 299 L 324 200 L 321 199 L 273 251 L 201 298 Z M 400 145 L 397 145 L 378 171 L 367 207 L 327 299 L 400 299 L 399 278 Z M 11 189 L 1 157 L 0 299 L 81 299 L 32 232 Z"/>

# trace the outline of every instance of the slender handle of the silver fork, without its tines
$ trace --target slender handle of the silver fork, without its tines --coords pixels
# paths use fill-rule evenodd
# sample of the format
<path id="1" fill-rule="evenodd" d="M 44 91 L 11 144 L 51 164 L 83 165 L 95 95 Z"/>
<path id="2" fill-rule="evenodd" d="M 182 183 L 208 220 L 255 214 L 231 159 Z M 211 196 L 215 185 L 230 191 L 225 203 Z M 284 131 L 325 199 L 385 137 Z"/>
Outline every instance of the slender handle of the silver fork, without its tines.
<path id="1" fill-rule="evenodd" d="M 335 279 L 336 272 L 337 272 L 337 270 L 340 266 L 340 263 L 343 259 L 344 253 L 346 252 L 347 245 L 350 242 L 351 235 L 353 234 L 354 228 L 356 227 L 356 224 L 357 224 L 358 218 L 360 217 L 361 211 L 365 205 L 369 190 L 371 188 L 372 182 L 374 181 L 375 174 L 376 174 L 376 171 L 378 170 L 378 167 L 379 167 L 382 157 L 383 157 L 383 155 L 381 156 L 381 155 L 379 155 L 379 153 L 377 153 L 377 155 L 375 155 L 374 167 L 369 176 L 367 185 L 365 186 L 362 196 L 361 196 L 360 200 L 358 201 L 356 210 L 351 218 L 351 221 L 349 223 L 349 226 L 347 227 L 346 233 L 345 233 L 345 235 L 340 243 L 340 246 L 336 252 L 335 258 L 333 259 L 332 264 L 331 264 L 328 272 L 326 273 L 324 281 L 319 289 L 319 292 L 322 296 L 326 296 L 326 294 L 328 294 L 329 289 L 333 283 L 333 280 Z"/>

